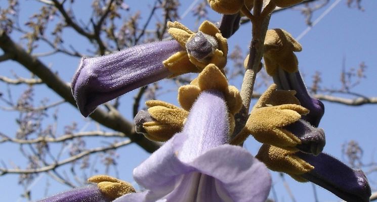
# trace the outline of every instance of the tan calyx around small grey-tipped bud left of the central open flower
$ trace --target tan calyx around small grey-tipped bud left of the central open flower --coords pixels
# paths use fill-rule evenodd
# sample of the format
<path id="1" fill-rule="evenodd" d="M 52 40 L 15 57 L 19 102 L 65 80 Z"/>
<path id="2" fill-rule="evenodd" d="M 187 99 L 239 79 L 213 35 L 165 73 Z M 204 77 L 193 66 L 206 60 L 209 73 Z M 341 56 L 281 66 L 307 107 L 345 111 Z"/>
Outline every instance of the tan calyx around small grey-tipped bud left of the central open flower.
<path id="1" fill-rule="evenodd" d="M 144 135 L 148 139 L 167 141 L 181 131 L 188 111 L 160 100 L 148 100 L 145 104 L 148 107 L 148 113 L 155 119 L 155 121 L 143 124 L 147 132 Z"/>

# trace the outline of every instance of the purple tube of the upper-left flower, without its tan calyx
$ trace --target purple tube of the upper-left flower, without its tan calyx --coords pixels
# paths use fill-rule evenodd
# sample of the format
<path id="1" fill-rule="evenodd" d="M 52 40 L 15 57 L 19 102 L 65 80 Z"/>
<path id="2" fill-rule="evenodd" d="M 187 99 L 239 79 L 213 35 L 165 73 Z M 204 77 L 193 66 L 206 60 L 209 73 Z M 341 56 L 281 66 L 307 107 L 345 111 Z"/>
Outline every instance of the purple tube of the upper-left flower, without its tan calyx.
<path id="1" fill-rule="evenodd" d="M 71 88 L 81 114 L 89 116 L 97 106 L 136 88 L 171 76 L 162 61 L 183 48 L 175 40 L 123 49 L 117 53 L 82 58 Z"/>

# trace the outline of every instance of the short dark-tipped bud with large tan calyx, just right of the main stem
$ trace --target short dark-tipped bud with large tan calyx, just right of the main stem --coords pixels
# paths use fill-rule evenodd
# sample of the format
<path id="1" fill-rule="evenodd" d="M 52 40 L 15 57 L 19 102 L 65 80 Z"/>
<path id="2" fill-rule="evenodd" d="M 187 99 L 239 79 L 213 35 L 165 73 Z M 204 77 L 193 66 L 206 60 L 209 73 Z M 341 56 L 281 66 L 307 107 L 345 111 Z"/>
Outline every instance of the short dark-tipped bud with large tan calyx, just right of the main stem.
<path id="1" fill-rule="evenodd" d="M 309 111 L 300 106 L 294 90 L 277 90 L 272 84 L 259 98 L 243 130 L 232 140 L 238 144 L 249 134 L 262 143 L 279 147 L 296 147 L 318 155 L 324 145 L 322 129 L 301 120 Z"/>

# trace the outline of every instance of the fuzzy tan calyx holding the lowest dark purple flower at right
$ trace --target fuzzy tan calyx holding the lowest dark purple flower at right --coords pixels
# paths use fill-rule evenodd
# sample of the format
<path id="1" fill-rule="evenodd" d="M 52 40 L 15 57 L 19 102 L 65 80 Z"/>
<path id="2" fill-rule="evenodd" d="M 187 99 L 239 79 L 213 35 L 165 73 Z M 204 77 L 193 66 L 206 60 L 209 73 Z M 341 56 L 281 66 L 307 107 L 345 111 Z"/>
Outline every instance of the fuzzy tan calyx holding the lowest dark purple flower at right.
<path id="1" fill-rule="evenodd" d="M 314 169 L 312 165 L 295 156 L 296 148 L 280 148 L 263 144 L 256 158 L 263 162 L 270 170 L 284 172 L 299 182 L 306 182 L 300 175 Z"/>

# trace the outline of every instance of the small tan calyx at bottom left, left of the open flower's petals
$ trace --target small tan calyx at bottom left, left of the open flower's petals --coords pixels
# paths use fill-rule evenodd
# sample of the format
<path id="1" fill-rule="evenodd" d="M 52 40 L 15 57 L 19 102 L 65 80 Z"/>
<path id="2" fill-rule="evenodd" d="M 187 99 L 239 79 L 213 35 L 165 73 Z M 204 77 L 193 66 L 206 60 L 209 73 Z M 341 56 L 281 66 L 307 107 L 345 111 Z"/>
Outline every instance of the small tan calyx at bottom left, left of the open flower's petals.
<path id="1" fill-rule="evenodd" d="M 108 175 L 95 175 L 88 182 L 97 183 L 98 189 L 110 199 L 118 198 L 127 193 L 135 193 L 135 188 L 128 182 Z"/>

